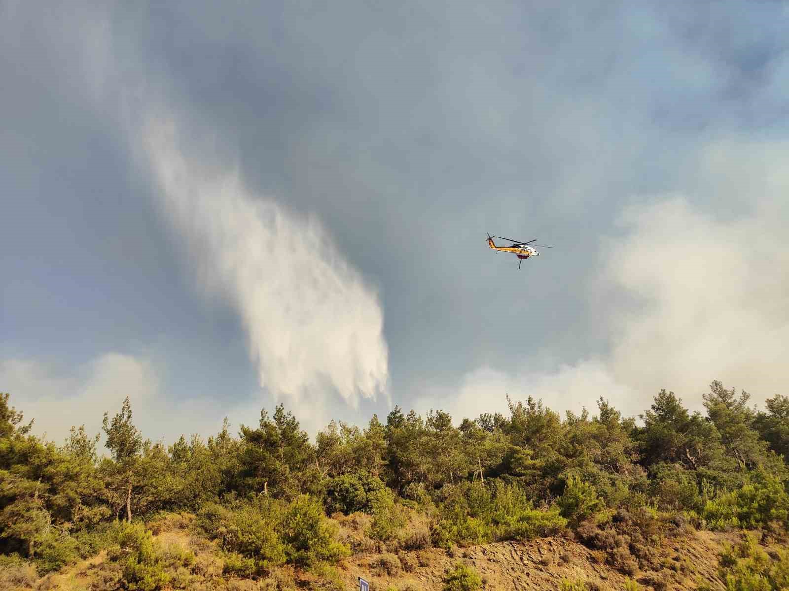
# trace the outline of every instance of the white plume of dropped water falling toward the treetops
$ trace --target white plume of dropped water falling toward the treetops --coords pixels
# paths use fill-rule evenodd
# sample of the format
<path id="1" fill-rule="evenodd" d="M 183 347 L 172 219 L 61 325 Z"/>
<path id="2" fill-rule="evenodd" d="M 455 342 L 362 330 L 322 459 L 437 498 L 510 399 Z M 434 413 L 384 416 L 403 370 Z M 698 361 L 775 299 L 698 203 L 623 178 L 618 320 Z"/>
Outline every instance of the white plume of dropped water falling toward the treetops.
<path id="1" fill-rule="evenodd" d="M 241 315 L 260 386 L 313 414 L 331 396 L 388 396 L 383 310 L 323 225 L 181 151 L 172 121 L 149 121 L 144 147 L 199 281 Z"/>

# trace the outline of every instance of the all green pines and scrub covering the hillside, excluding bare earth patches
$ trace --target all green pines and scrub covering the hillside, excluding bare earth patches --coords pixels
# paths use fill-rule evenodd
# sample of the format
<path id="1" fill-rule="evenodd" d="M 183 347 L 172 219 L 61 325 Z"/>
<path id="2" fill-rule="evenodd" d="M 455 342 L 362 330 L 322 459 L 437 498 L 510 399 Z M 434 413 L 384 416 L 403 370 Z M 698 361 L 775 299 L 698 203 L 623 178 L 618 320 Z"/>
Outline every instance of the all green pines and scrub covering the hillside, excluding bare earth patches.
<path id="1" fill-rule="evenodd" d="M 104 415 L 104 452 L 82 427 L 62 444 L 32 435 L 2 394 L 0 589 L 346 589 L 362 564 L 396 582 L 376 589 L 421 589 L 439 553 L 430 588 L 492 589 L 473 548 L 545 537 L 574 546 L 535 558 L 543 571 L 578 547 L 617 588 L 668 589 L 697 565 L 667 548 L 709 532 L 730 542 L 698 589 L 787 588 L 789 555 L 771 545 L 789 527 L 789 399 L 759 411 L 714 381 L 704 400 L 691 413 L 662 390 L 640 421 L 603 399 L 564 418 L 508 400 L 459 426 L 394 407 L 314 442 L 280 405 L 169 446 L 125 400 Z"/>

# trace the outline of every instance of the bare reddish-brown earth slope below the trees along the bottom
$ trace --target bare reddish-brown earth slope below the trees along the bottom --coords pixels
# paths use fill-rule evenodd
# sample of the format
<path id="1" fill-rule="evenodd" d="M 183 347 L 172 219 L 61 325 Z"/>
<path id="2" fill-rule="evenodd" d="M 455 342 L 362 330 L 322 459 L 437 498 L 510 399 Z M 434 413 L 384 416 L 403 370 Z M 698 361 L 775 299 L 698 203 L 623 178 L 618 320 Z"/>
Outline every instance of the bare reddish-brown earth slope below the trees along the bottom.
<path id="1" fill-rule="evenodd" d="M 585 588 L 593 591 L 619 591 L 630 579 L 608 563 L 604 552 L 590 550 L 563 537 L 495 542 L 454 551 L 428 548 L 394 554 L 382 548 L 383 552 L 357 552 L 340 560 L 329 571 L 282 567 L 266 577 L 233 577 L 222 575 L 218 545 L 195 535 L 190 522 L 193 522 L 191 515 L 168 515 L 150 524 L 159 532 L 153 539 L 163 554 L 184 556 L 186 552 L 193 552 L 194 555 L 189 567 L 173 563 L 166 567 L 172 580 L 163 589 L 354 589 L 361 576 L 371 583 L 372 591 L 440 591 L 445 572 L 458 562 L 477 572 L 481 576 L 481 589 L 489 591 L 558 590 L 563 580 L 584 582 Z M 350 522 L 353 519 L 340 519 L 340 530 L 345 528 L 346 534 L 351 533 Z M 718 574 L 718 556 L 724 545 L 735 544 L 739 538 L 737 533 L 702 531 L 664 541 L 658 548 L 659 566 L 654 570 L 638 571 L 634 580 L 641 589 L 658 591 L 696 589 L 698 582 L 706 582 L 709 589 L 724 589 Z M 103 550 L 97 556 L 38 580 L 26 576 L 22 570 L 8 569 L 0 574 L 0 591 L 119 589 L 122 588 L 119 576 L 118 563 L 111 562 L 107 551 Z"/>

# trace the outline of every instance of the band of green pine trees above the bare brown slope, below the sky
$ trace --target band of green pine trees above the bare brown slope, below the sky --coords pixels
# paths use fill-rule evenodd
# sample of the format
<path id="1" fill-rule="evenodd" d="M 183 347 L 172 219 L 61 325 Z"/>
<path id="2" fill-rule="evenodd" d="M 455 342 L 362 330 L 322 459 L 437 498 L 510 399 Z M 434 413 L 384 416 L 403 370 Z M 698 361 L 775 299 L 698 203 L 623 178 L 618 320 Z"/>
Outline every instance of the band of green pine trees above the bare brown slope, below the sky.
<path id="1" fill-rule="evenodd" d="M 331 421 L 314 441 L 280 404 L 237 433 L 225 422 L 166 446 L 140 433 L 126 399 L 104 414 L 99 450 L 83 426 L 60 444 L 36 437 L 0 394 L 0 559 L 47 572 L 118 536 L 147 548 L 136 523 L 185 511 L 209 537 L 222 532 L 226 572 L 264 574 L 346 556 L 353 544 L 327 517 L 359 512 L 370 539 L 406 548 L 571 531 L 632 571 L 655 532 L 787 529 L 789 399 L 749 400 L 713 381 L 705 413 L 660 390 L 640 421 L 603 398 L 564 417 L 507 398 L 508 414 L 459 422 L 394 407 L 363 428 Z M 144 563 L 131 563 L 133 579 Z"/>

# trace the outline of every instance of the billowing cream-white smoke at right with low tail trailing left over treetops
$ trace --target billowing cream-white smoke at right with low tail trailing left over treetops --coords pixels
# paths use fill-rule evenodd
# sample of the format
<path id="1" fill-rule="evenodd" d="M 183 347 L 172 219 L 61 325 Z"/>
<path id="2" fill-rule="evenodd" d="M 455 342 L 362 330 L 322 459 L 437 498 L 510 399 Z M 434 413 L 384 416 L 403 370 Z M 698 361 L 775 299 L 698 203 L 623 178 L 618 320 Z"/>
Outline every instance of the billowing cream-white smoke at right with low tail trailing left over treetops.
<path id="1" fill-rule="evenodd" d="M 609 351 L 554 371 L 484 367 L 451 392 L 427 388 L 421 410 L 457 418 L 506 410 L 504 393 L 579 411 L 604 396 L 625 414 L 660 388 L 694 410 L 712 380 L 753 403 L 789 389 L 789 157 L 786 143 L 711 143 L 687 184 L 701 203 L 660 195 L 619 217 L 624 235 L 600 242 L 589 310 Z"/>

